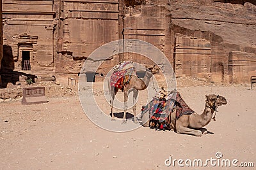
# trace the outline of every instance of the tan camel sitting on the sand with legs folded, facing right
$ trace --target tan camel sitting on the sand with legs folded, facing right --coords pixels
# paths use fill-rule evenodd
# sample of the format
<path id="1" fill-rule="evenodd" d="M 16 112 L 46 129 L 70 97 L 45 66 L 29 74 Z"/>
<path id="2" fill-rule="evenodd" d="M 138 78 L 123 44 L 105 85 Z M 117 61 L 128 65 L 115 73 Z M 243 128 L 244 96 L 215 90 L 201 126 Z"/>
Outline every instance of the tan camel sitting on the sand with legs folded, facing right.
<path id="1" fill-rule="evenodd" d="M 223 96 L 216 96 L 214 94 L 205 97 L 205 109 L 201 115 L 194 112 L 190 115 L 182 115 L 181 117 L 176 118 L 176 109 L 170 113 L 168 116 L 170 129 L 179 134 L 192 134 L 194 136 L 202 136 L 202 134 L 206 134 L 207 130 L 202 127 L 208 125 L 211 122 L 211 119 L 215 120 L 214 112 L 218 106 L 227 104 L 227 100 Z M 143 120 L 145 120 L 144 117 L 147 117 L 147 115 L 143 115 Z M 148 122 L 145 122 L 144 125 L 148 126 L 148 124 L 149 120 Z"/>

